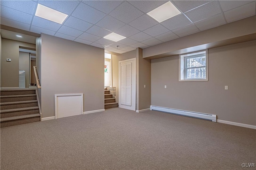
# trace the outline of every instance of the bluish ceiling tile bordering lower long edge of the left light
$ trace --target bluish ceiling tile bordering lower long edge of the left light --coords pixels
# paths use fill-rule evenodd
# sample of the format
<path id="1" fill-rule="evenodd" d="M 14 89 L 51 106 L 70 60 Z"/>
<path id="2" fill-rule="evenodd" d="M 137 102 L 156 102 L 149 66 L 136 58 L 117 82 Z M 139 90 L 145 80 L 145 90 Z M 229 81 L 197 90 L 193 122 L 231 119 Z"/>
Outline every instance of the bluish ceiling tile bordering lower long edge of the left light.
<path id="1" fill-rule="evenodd" d="M 49 29 L 52 31 L 57 31 L 61 27 L 61 24 L 59 24 L 59 23 L 49 21 L 49 20 L 46 20 L 44 18 L 40 18 L 37 16 L 34 16 L 32 25 L 37 26 L 37 27 L 42 27 L 45 29 Z"/>

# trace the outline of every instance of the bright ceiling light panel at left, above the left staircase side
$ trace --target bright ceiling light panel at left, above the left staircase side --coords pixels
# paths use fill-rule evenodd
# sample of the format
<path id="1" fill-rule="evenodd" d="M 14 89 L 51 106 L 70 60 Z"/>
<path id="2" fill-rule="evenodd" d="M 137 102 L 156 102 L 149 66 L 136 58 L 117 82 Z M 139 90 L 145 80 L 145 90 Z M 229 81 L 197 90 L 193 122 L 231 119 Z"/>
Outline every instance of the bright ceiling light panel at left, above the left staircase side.
<path id="1" fill-rule="evenodd" d="M 60 24 L 62 24 L 63 21 L 66 20 L 68 16 L 66 14 L 63 14 L 62 12 L 58 12 L 56 10 L 53 10 L 41 4 L 37 5 L 35 15 L 38 17 L 44 18 L 46 20 L 54 21 Z"/>

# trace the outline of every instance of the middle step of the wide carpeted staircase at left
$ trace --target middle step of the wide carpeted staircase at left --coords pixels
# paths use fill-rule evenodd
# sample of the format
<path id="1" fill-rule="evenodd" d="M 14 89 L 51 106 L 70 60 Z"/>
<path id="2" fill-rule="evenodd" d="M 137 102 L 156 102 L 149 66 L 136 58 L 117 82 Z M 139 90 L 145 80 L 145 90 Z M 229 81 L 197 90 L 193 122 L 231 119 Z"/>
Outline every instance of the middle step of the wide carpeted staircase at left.
<path id="1" fill-rule="evenodd" d="M 35 107 L 38 106 L 37 100 L 19 101 L 19 102 L 3 102 L 0 104 L 1 110 L 15 109 L 23 107 Z"/>

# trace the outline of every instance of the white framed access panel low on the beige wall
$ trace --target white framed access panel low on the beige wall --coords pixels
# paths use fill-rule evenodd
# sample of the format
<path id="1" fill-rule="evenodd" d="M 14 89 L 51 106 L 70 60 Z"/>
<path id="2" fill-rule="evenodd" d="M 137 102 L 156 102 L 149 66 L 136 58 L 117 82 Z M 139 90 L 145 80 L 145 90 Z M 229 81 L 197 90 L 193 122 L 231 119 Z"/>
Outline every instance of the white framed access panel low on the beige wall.
<path id="1" fill-rule="evenodd" d="M 83 94 L 55 94 L 55 119 L 83 114 Z"/>

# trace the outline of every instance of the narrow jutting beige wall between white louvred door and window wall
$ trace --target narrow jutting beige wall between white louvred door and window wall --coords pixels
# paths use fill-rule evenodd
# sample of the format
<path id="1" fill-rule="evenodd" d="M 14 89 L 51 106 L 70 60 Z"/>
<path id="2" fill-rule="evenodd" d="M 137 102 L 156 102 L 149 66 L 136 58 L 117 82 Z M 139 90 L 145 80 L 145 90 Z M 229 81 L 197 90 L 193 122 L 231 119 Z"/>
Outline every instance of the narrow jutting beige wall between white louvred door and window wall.
<path id="1" fill-rule="evenodd" d="M 137 48 L 137 110 L 148 109 L 151 104 L 151 61 L 142 58 L 142 49 Z M 146 85 L 146 88 L 144 88 Z"/>

